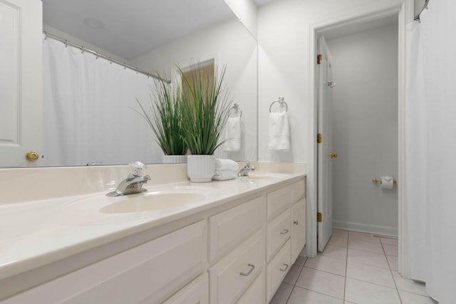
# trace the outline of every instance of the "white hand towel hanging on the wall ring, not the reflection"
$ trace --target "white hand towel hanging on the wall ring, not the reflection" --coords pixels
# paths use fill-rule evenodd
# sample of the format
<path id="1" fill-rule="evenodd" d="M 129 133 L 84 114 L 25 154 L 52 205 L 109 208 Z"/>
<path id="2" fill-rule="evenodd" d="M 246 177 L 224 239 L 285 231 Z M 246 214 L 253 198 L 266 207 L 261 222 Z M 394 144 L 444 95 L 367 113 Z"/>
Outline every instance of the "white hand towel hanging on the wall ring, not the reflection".
<path id="1" fill-rule="evenodd" d="M 269 113 L 269 150 L 288 151 L 290 127 L 286 112 Z"/>

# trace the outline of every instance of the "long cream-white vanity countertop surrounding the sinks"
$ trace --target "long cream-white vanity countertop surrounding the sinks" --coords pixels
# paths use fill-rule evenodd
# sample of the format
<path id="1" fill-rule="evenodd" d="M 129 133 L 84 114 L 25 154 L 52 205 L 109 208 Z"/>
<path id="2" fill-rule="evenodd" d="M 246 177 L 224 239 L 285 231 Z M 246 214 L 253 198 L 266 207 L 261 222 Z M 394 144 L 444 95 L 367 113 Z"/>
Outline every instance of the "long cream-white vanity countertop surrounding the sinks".
<path id="1" fill-rule="evenodd" d="M 138 234 L 276 184 L 293 182 L 305 174 L 281 173 L 274 178 L 238 178 L 222 182 L 177 182 L 147 186 L 153 192 L 163 187 L 198 187 L 207 199 L 173 209 L 103 214 L 103 206 L 125 196 L 106 192 L 67 196 L 15 204 L 0 204 L 0 280 L 30 271 L 90 248 Z M 129 197 L 145 194 L 130 194 Z M 88 204 L 90 201 L 90 204 Z"/>

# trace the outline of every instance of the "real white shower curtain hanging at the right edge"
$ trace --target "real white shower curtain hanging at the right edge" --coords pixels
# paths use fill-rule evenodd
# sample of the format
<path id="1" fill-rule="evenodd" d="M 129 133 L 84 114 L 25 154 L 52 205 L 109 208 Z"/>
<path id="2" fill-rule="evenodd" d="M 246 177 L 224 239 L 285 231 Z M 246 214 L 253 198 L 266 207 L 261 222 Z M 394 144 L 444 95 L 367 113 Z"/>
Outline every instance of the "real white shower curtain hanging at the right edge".
<path id="1" fill-rule="evenodd" d="M 408 24 L 406 185 L 410 276 L 456 303 L 456 1 Z"/>

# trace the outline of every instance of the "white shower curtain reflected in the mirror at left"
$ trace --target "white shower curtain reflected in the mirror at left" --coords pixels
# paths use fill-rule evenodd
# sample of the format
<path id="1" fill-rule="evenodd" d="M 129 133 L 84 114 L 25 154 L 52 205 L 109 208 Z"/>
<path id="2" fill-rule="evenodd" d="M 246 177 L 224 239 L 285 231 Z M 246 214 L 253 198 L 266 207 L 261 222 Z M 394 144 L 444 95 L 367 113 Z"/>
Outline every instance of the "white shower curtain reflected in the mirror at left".
<path id="1" fill-rule="evenodd" d="M 152 78 L 46 38 L 43 80 L 47 166 L 161 162 L 150 128 L 129 108 L 150 101 Z"/>

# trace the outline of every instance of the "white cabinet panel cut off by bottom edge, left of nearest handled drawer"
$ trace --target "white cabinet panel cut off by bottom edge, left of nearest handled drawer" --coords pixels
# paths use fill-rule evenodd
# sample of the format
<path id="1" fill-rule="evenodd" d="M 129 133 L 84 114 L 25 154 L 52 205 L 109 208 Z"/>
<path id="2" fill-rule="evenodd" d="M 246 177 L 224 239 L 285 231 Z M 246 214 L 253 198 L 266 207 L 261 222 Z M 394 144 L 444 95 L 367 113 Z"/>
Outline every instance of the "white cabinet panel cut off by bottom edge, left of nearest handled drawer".
<path id="1" fill-rule="evenodd" d="M 141 302 L 141 304 L 148 304 Z M 153 304 L 152 302 L 150 304 Z M 209 304 L 209 279 L 207 273 L 195 278 L 163 304 Z"/>

